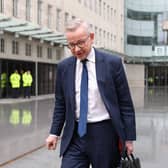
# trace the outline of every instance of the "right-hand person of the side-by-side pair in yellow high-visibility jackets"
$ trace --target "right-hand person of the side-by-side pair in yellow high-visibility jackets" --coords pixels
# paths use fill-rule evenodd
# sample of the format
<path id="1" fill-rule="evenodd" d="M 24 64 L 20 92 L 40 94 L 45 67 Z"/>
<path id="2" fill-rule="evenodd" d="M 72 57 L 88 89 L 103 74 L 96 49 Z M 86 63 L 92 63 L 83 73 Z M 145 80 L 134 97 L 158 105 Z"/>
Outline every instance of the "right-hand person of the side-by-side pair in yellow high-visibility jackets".
<path id="1" fill-rule="evenodd" d="M 23 89 L 24 89 L 24 97 L 30 98 L 31 96 L 31 86 L 33 82 L 33 77 L 31 75 L 30 70 L 27 70 L 23 75 L 22 75 L 22 80 L 23 80 Z"/>

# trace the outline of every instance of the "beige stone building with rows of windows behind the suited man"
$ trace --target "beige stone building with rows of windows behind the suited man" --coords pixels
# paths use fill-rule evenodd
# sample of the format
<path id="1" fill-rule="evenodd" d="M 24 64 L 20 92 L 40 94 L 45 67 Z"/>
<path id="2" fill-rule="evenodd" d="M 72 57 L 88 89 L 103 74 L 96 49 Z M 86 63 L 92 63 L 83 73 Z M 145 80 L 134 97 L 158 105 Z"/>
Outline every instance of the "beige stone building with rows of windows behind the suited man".
<path id="1" fill-rule="evenodd" d="M 32 95 L 54 93 L 56 65 L 69 55 L 64 26 L 74 18 L 90 23 L 95 47 L 124 53 L 124 0 L 0 0 L 1 98 L 11 97 L 16 69 L 31 71 Z"/>

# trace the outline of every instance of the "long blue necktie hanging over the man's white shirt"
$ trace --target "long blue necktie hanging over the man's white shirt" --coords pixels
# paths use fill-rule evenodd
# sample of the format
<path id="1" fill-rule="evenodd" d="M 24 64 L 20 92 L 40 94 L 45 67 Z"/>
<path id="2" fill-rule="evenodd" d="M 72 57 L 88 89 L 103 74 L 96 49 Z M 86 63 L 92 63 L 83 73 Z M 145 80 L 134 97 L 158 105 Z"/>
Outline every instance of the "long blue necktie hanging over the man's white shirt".
<path id="1" fill-rule="evenodd" d="M 83 71 L 80 87 L 80 117 L 78 123 L 78 134 L 83 137 L 86 134 L 87 112 L 88 112 L 88 71 L 86 67 L 86 59 L 82 60 Z"/>

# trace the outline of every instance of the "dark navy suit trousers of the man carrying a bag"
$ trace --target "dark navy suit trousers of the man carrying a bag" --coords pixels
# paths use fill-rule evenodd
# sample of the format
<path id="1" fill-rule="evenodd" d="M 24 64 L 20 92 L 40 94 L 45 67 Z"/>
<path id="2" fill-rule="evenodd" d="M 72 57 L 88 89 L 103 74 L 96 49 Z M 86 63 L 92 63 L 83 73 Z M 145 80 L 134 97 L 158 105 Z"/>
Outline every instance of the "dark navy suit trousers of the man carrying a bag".
<path id="1" fill-rule="evenodd" d="M 116 168 L 120 162 L 119 138 L 111 120 L 87 124 L 87 134 L 77 133 L 62 158 L 61 168 Z"/>

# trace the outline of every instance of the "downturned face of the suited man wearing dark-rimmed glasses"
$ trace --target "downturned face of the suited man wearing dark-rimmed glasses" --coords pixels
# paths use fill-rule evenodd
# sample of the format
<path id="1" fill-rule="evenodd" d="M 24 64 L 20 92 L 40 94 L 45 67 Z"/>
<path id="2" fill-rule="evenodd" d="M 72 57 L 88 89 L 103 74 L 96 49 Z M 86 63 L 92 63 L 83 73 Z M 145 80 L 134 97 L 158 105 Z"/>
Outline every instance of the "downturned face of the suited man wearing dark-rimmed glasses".
<path id="1" fill-rule="evenodd" d="M 88 34 L 81 26 L 74 32 L 67 32 L 66 37 L 72 54 L 80 60 L 85 59 L 91 50 L 94 34 Z"/>

